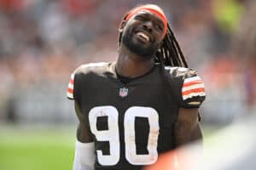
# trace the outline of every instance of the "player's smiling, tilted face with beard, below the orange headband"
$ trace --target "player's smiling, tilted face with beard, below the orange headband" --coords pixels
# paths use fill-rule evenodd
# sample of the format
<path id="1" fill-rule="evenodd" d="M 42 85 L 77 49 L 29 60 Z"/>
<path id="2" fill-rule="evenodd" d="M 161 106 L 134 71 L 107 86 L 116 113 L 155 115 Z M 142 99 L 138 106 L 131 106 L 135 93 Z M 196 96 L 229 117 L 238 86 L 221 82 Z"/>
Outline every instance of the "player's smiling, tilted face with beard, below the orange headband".
<path id="1" fill-rule="evenodd" d="M 121 42 L 133 53 L 151 59 L 162 44 L 165 36 L 164 23 L 158 16 L 143 10 L 123 21 Z"/>

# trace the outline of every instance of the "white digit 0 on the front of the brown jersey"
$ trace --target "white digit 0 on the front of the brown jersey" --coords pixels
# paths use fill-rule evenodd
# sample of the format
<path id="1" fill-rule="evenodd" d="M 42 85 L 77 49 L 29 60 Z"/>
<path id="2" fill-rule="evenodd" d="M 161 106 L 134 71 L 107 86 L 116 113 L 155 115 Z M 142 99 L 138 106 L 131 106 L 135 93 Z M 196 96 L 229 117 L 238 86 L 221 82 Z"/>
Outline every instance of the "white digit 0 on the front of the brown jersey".
<path id="1" fill-rule="evenodd" d="M 148 154 L 137 155 L 135 143 L 135 119 L 146 117 L 149 123 Z M 150 107 L 130 107 L 125 111 L 125 157 L 133 165 L 149 165 L 157 160 L 157 139 L 159 135 L 158 114 Z"/>

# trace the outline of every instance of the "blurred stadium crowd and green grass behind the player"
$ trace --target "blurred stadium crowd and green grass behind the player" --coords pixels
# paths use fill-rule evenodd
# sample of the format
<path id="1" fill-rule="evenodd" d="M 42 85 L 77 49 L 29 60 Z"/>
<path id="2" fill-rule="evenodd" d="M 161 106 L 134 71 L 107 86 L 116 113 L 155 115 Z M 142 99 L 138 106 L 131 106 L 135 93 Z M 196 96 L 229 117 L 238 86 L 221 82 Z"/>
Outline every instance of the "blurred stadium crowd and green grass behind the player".
<path id="1" fill-rule="evenodd" d="M 115 60 L 119 22 L 141 3 L 164 9 L 206 84 L 206 137 L 256 113 L 253 0 L 0 0 L 0 169 L 72 168 L 70 74 Z"/>

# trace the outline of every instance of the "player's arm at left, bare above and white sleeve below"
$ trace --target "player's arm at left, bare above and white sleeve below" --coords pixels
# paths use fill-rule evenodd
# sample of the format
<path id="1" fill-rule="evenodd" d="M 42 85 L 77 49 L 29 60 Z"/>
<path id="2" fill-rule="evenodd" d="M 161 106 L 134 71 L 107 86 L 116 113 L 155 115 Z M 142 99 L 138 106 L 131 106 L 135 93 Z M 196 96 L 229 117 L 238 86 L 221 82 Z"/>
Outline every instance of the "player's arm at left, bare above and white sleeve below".
<path id="1" fill-rule="evenodd" d="M 84 116 L 79 109 L 79 105 L 77 102 L 74 103 L 76 115 L 79 118 L 79 127 L 77 130 L 73 170 L 93 170 L 95 161 L 93 139 L 90 135 L 90 130 L 88 129 L 86 122 L 84 122 Z"/>

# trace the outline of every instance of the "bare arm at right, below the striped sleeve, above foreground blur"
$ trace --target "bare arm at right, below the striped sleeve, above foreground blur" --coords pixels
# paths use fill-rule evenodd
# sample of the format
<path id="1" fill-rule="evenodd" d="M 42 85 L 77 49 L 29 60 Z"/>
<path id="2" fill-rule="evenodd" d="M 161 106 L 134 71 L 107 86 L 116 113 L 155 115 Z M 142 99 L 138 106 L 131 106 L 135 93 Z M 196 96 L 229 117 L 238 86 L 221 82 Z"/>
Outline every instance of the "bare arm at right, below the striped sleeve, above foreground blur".
<path id="1" fill-rule="evenodd" d="M 176 146 L 189 144 L 198 140 L 202 142 L 201 127 L 198 122 L 198 109 L 180 108 L 177 122 L 174 125 L 174 136 Z M 201 143 L 202 144 L 202 143 Z"/>

